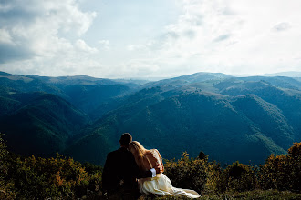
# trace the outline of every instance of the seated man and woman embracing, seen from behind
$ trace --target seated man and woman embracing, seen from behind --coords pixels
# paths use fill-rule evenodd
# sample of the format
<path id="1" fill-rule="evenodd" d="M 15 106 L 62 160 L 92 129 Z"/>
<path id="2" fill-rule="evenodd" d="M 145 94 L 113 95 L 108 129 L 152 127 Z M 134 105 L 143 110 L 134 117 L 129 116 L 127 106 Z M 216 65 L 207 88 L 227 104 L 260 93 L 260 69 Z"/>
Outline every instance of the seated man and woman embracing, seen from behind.
<path id="1" fill-rule="evenodd" d="M 140 194 L 200 197 L 193 190 L 171 185 L 157 149 L 147 150 L 132 142 L 128 133 L 121 135 L 119 142 L 121 147 L 108 154 L 103 169 L 102 185 L 109 199 L 135 199 Z"/>

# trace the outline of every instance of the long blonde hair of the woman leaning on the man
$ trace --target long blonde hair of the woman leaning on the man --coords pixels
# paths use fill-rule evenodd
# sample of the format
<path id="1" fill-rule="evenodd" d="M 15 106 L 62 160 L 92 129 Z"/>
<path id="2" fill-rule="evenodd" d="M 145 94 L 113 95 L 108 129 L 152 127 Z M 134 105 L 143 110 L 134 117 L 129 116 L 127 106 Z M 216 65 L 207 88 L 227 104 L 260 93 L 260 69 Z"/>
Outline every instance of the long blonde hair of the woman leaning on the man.
<path id="1" fill-rule="evenodd" d="M 144 166 L 143 159 L 145 156 L 145 153 L 148 151 L 143 147 L 143 145 L 140 144 L 140 142 L 133 141 L 129 145 L 129 150 L 131 154 L 134 155 L 135 161 L 137 165 L 140 167 L 141 170 L 147 170 Z"/>

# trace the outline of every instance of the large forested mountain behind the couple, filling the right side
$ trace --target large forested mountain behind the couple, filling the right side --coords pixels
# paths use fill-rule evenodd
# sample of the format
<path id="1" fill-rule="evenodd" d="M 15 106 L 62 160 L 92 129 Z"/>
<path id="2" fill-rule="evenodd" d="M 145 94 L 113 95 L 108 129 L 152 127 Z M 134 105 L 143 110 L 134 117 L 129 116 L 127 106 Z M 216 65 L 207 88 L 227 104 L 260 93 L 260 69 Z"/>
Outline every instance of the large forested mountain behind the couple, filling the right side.
<path id="1" fill-rule="evenodd" d="M 184 76 L 176 83 L 174 80 L 152 83 L 161 86 L 123 99 L 67 153 L 88 161 L 85 155 L 93 154 L 74 154 L 72 149 L 83 149 L 98 140 L 99 146 L 93 151 L 103 154 L 91 160 L 102 165 L 105 155 L 118 147 L 119 135 L 130 132 L 143 145 L 161 150 L 166 158 L 183 151 L 196 156 L 202 150 L 222 162 L 258 164 L 270 154 L 285 154 L 285 149 L 301 139 L 300 90 L 297 86 L 285 88 L 292 87 L 289 83 L 298 85 L 295 79 L 255 76 L 188 83 Z M 104 145 L 106 149 L 100 148 Z"/>

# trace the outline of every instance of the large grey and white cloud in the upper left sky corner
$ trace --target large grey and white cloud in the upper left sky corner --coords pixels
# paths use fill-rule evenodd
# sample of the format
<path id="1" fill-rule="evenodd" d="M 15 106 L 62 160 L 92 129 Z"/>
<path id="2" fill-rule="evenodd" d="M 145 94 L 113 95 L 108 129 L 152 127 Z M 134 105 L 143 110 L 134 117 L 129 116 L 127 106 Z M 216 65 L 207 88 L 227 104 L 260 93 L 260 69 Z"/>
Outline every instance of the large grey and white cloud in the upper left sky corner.
<path id="1" fill-rule="evenodd" d="M 61 62 L 57 59 L 60 55 L 72 62 L 73 56 L 83 51 L 95 53 L 83 40 L 74 43 L 68 39 L 85 34 L 95 17 L 95 12 L 82 12 L 75 0 L 1 1 L 0 62 L 19 67 L 11 62 L 36 63 L 49 58 Z"/>

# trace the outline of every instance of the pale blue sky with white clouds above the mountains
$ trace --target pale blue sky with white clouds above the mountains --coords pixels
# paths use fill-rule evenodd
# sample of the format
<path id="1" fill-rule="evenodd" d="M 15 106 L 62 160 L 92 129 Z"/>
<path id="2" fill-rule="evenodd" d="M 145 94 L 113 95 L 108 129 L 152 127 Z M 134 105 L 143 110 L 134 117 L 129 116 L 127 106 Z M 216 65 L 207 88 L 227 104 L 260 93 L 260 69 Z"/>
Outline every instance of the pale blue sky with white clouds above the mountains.
<path id="1" fill-rule="evenodd" d="M 0 0 L 0 71 L 171 77 L 301 71 L 300 0 Z"/>

